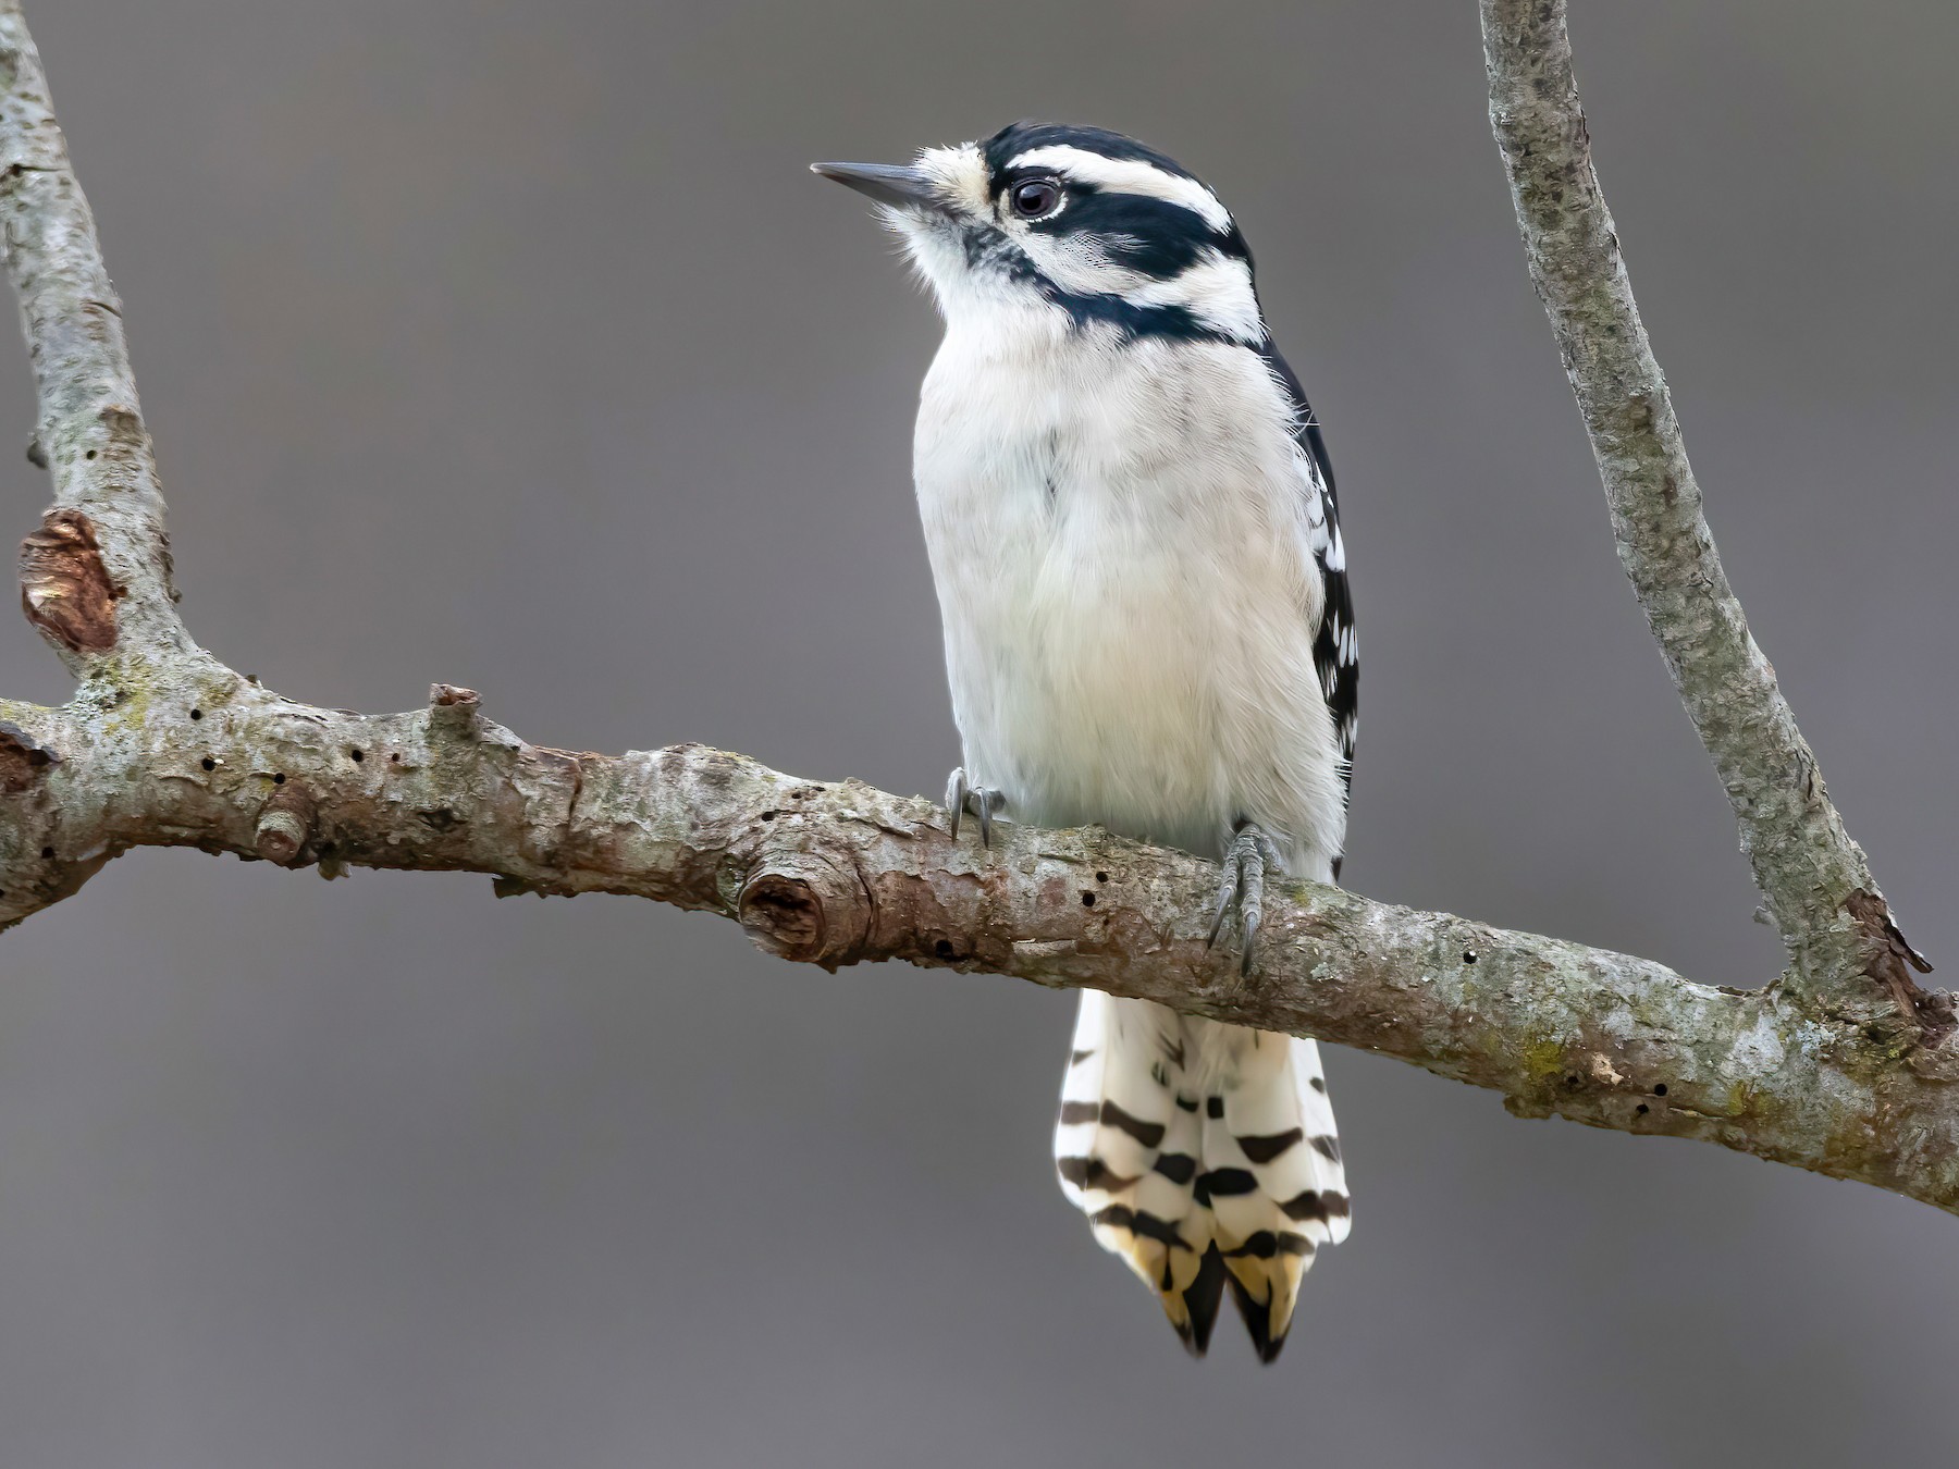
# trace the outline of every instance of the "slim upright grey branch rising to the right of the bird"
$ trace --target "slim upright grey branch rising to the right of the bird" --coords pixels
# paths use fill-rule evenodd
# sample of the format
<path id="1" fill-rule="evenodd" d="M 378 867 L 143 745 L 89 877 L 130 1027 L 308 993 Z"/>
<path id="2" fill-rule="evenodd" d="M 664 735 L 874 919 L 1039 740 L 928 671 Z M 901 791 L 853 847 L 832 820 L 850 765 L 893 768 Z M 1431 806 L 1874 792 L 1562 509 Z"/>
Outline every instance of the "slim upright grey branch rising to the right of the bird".
<path id="1" fill-rule="evenodd" d="M 1565 0 L 1481 6 L 1491 127 L 1530 278 L 1557 333 L 1604 480 L 1618 558 L 1728 789 L 1742 850 L 1789 948 L 1792 981 L 1838 1003 L 1867 1005 L 1875 971 L 1904 1011 L 1918 1011 L 1932 1026 L 1949 1024 L 1945 1005 L 1912 981 L 1912 968 L 1932 966 L 1890 923 L 1714 550 L 1593 168 Z"/>

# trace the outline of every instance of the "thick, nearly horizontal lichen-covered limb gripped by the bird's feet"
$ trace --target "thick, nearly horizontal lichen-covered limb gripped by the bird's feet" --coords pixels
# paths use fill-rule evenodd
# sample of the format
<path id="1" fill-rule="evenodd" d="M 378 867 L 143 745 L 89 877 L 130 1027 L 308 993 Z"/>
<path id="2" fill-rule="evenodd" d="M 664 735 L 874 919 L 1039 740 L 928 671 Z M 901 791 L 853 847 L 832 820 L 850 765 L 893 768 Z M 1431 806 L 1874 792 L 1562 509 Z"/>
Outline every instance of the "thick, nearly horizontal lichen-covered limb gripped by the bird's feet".
<path id="1" fill-rule="evenodd" d="M 12 768 L 55 874 L 178 844 L 329 876 L 472 870 L 500 893 L 631 893 L 733 917 L 789 960 L 1091 985 L 1379 1050 L 1522 1114 L 1702 1138 L 1959 1210 L 1959 1046 L 1910 1024 L 1873 1036 L 1779 985 L 1712 989 L 1336 887 L 1267 891 L 1246 981 L 1205 944 L 1217 870 L 1199 858 L 1013 825 L 987 850 L 923 797 L 703 746 L 547 750 L 443 686 L 382 717 L 223 676 L 143 707 L 0 703 L 0 719 L 51 756 Z M 10 885 L 0 917 L 43 897 Z"/>

